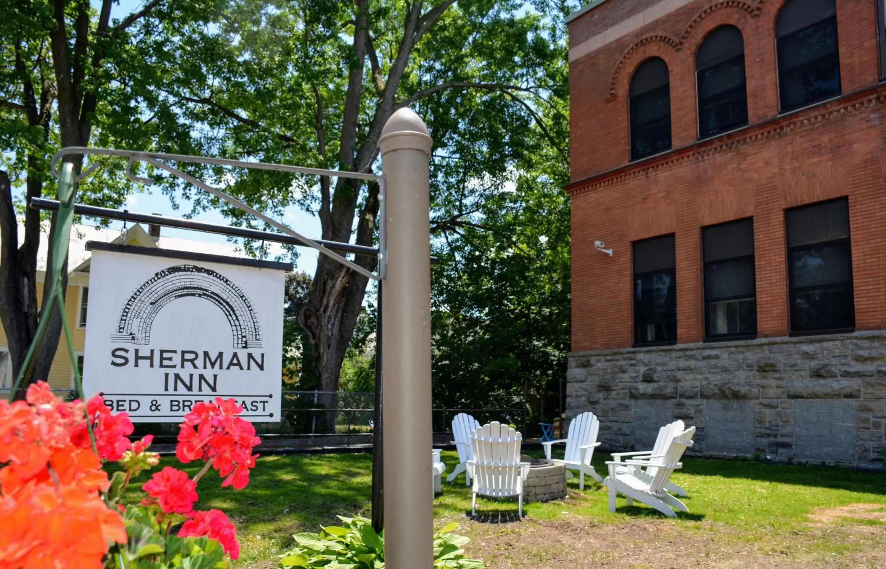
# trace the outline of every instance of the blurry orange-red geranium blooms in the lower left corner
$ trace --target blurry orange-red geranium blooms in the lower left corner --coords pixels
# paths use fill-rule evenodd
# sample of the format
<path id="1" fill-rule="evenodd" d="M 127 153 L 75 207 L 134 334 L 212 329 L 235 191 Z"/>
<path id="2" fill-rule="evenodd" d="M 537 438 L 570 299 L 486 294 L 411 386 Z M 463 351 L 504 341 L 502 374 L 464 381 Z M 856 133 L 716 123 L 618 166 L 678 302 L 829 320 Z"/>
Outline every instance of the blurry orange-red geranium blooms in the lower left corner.
<path id="1" fill-rule="evenodd" d="M 101 461 L 70 442 L 83 406 L 66 404 L 38 382 L 27 401 L 0 401 L 0 567 L 95 567 L 108 542 L 126 542 Z"/>

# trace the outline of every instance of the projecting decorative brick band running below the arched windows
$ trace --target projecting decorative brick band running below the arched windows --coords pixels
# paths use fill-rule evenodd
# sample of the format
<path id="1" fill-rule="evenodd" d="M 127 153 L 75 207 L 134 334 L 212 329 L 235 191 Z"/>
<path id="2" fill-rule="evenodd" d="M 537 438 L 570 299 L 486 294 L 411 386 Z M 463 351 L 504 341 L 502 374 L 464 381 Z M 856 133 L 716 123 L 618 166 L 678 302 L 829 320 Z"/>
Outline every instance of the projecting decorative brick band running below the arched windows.
<path id="1" fill-rule="evenodd" d="M 695 142 L 681 149 L 672 150 L 657 158 L 648 158 L 639 164 L 620 166 L 610 172 L 596 174 L 586 180 L 573 181 L 563 186 L 572 197 L 588 192 L 609 188 L 641 176 L 671 170 L 690 162 L 701 162 L 707 158 L 758 144 L 768 140 L 802 132 L 822 122 L 854 114 L 863 109 L 886 104 L 886 85 L 877 85 L 859 93 L 843 96 L 835 101 L 816 105 L 806 111 L 768 120 L 764 123 L 743 128 L 733 135 L 724 135 L 710 141 Z"/>

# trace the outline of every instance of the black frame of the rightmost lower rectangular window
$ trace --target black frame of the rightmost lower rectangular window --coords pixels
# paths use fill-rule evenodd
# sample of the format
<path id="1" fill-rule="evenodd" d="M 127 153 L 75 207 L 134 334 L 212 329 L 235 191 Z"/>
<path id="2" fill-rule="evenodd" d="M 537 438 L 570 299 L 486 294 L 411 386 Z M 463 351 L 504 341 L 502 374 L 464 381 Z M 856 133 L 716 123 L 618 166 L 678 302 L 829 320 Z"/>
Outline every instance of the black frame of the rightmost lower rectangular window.
<path id="1" fill-rule="evenodd" d="M 817 205 L 822 204 L 830 204 L 833 202 L 843 201 L 846 203 L 846 227 L 847 227 L 847 237 L 842 237 L 839 239 L 831 239 L 828 241 L 820 241 L 820 242 L 812 242 L 812 243 L 804 243 L 802 245 L 791 246 L 789 242 L 789 227 L 788 227 L 788 214 L 789 211 L 801 210 L 808 207 L 815 207 Z M 855 282 L 854 282 L 854 273 L 852 271 L 852 228 L 850 225 L 849 219 L 849 199 L 847 197 L 838 197 L 832 200 L 825 200 L 823 202 L 816 202 L 814 204 L 804 204 L 794 208 L 790 208 L 785 210 L 785 245 L 787 249 L 787 262 L 788 262 L 788 319 L 789 319 L 789 335 L 790 336 L 810 336 L 810 335 L 820 335 L 820 334 L 848 334 L 851 332 L 855 332 Z M 849 281 L 842 282 L 832 282 L 826 285 L 807 285 L 804 287 L 795 287 L 794 281 L 794 263 L 793 263 L 793 253 L 798 250 L 810 250 L 810 249 L 820 249 L 822 247 L 835 246 L 835 245 L 845 245 L 846 248 L 846 258 L 849 265 Z M 828 326 L 828 327 L 813 327 L 813 328 L 805 328 L 805 329 L 797 329 L 797 321 L 795 319 L 795 306 L 796 306 L 796 298 L 797 292 L 804 293 L 810 290 L 822 290 L 822 289 L 833 289 L 833 288 L 847 288 L 849 291 L 849 301 L 851 304 L 851 322 L 848 323 L 847 326 Z"/>

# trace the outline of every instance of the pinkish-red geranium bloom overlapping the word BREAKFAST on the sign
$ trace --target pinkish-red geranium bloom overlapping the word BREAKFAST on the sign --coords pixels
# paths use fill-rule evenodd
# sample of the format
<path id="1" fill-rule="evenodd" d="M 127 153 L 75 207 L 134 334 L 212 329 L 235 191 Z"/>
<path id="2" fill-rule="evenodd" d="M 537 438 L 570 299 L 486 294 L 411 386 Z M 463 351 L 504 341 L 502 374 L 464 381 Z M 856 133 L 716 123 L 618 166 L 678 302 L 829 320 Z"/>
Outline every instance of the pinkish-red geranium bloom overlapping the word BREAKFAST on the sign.
<path id="1" fill-rule="evenodd" d="M 255 427 L 237 417 L 243 407 L 233 399 L 216 397 L 214 403 L 198 403 L 184 416 L 179 426 L 175 457 L 184 463 L 191 460 L 212 461 L 224 478 L 221 486 L 241 489 L 249 483 L 249 469 L 255 466 L 253 447 L 261 442 Z"/>

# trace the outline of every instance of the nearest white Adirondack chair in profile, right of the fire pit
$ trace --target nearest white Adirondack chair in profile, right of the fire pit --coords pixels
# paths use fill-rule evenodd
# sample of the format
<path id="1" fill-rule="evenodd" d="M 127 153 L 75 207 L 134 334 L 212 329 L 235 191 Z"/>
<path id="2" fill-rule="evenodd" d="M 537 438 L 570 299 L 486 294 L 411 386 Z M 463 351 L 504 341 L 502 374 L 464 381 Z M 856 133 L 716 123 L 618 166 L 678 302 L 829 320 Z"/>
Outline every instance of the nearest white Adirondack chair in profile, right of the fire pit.
<path id="1" fill-rule="evenodd" d="M 617 494 L 627 496 L 627 505 L 633 504 L 634 500 L 639 500 L 643 504 L 647 504 L 657 511 L 662 512 L 665 516 L 671 518 L 677 517 L 677 512 L 688 511 L 686 504 L 683 504 L 671 496 L 664 485 L 671 478 L 674 469 L 681 468 L 680 458 L 687 447 L 692 446 L 692 435 L 696 433 L 696 427 L 689 427 L 680 434 L 674 436 L 664 450 L 664 455 L 656 457 L 650 456 L 646 459 L 627 459 L 620 461 L 609 461 L 609 476 L 603 481 L 603 484 L 610 489 L 610 511 L 615 511 L 615 498 Z M 651 482 L 634 476 L 633 473 L 619 472 L 626 466 L 639 466 L 641 468 L 653 467 L 656 469 L 655 476 Z"/>

